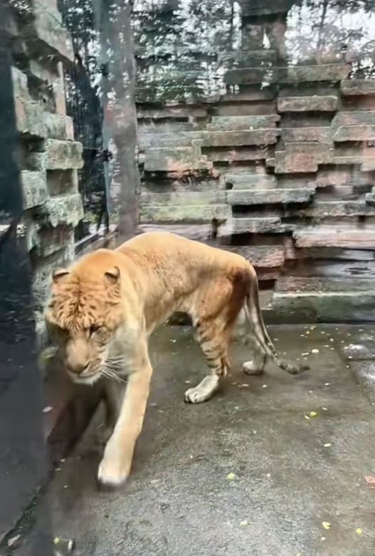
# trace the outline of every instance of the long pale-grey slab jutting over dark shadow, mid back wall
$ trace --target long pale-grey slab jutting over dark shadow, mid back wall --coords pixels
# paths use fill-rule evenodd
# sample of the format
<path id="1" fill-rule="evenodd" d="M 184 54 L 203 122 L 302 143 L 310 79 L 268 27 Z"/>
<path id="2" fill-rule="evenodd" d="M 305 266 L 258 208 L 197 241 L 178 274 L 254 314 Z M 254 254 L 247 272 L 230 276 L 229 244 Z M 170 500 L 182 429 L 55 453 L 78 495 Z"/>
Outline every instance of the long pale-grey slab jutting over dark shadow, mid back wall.
<path id="1" fill-rule="evenodd" d="M 230 205 L 265 205 L 290 202 L 309 202 L 315 189 L 255 189 L 228 191 Z"/>

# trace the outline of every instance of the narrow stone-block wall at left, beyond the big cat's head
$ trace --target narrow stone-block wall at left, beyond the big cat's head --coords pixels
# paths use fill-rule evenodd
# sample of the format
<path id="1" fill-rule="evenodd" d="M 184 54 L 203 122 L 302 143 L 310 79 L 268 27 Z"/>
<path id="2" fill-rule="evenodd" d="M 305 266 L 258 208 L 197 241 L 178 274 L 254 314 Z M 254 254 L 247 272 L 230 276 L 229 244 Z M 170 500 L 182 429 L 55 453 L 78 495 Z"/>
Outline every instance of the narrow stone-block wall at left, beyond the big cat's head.
<path id="1" fill-rule="evenodd" d="M 38 328 L 51 271 L 73 259 L 74 227 L 83 217 L 77 176 L 82 147 L 65 113 L 63 85 L 63 64 L 73 60 L 73 48 L 55 0 L 11 3 L 11 49 Z"/>

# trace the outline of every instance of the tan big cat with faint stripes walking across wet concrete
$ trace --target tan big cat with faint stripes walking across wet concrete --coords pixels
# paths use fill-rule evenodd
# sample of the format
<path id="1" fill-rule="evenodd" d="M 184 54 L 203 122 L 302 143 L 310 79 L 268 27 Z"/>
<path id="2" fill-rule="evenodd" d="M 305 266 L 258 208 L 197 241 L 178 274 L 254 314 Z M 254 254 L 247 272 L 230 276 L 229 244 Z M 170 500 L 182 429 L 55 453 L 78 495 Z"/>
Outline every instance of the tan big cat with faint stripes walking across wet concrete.
<path id="1" fill-rule="evenodd" d="M 99 249 L 53 274 L 46 321 L 57 332 L 70 376 L 83 383 L 128 376 L 100 463 L 100 481 L 116 485 L 130 473 L 152 375 L 149 334 L 176 311 L 191 316 L 211 371 L 186 391 L 186 401 L 199 403 L 215 393 L 228 371 L 231 333 L 243 307 L 258 341 L 258 352 L 244 371 L 263 371 L 267 355 L 287 371 L 297 371 L 275 355 L 260 314 L 256 274 L 237 254 L 152 232 L 113 251 Z"/>

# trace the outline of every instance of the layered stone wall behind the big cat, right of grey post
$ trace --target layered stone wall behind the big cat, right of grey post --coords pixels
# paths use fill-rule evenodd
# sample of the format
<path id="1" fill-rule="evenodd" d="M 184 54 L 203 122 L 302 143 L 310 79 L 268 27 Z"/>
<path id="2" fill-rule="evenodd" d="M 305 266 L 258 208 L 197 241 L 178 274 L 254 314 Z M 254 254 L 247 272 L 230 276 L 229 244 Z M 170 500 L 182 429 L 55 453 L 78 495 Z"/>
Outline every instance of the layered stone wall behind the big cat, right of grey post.
<path id="1" fill-rule="evenodd" d="M 374 320 L 374 6 L 135 4 L 142 225 L 248 257 L 272 321 Z"/>

